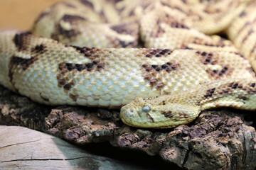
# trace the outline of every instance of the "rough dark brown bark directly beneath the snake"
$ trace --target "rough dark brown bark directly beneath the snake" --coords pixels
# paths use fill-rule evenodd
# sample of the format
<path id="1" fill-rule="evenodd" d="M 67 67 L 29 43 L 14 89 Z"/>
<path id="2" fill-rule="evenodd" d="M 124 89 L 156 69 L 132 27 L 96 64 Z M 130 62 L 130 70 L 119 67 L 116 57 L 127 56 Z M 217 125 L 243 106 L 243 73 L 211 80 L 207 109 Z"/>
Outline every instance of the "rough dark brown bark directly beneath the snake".
<path id="1" fill-rule="evenodd" d="M 160 155 L 185 169 L 255 169 L 256 166 L 256 133 L 255 128 L 248 126 L 255 125 L 255 112 L 219 109 L 201 113 L 189 125 L 145 130 L 124 125 L 118 110 L 43 106 L 2 86 L 0 111 L 0 119 L 6 125 L 41 130 L 78 145 L 110 142 L 116 147 Z"/>

